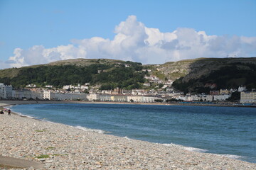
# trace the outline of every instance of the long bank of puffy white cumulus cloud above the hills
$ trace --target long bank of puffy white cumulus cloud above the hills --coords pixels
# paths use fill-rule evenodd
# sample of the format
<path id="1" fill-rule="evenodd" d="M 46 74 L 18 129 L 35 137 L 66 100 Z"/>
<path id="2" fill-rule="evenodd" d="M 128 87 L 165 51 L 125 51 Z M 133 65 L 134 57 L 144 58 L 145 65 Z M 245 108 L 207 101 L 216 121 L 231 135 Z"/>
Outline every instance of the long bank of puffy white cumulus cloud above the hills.
<path id="1" fill-rule="evenodd" d="M 147 28 L 128 16 L 114 28 L 113 40 L 93 37 L 71 40 L 69 45 L 45 48 L 35 45 L 28 50 L 16 48 L 9 57 L 9 67 L 44 64 L 75 58 L 106 58 L 156 64 L 198 57 L 252 57 L 256 54 L 256 37 L 207 35 L 193 28 L 177 28 L 161 33 Z M 1 63 L 0 63 L 1 64 Z"/>

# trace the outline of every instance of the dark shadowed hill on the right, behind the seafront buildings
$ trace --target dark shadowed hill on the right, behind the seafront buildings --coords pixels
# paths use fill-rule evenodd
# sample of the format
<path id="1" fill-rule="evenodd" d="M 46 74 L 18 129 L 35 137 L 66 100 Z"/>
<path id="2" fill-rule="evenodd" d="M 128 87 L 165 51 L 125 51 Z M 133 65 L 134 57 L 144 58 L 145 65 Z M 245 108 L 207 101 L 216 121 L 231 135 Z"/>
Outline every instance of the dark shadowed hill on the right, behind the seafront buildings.
<path id="1" fill-rule="evenodd" d="M 256 88 L 256 58 L 201 59 L 189 65 L 188 74 L 174 81 L 180 91 L 208 93 L 206 84 L 216 84 L 219 89 Z"/>

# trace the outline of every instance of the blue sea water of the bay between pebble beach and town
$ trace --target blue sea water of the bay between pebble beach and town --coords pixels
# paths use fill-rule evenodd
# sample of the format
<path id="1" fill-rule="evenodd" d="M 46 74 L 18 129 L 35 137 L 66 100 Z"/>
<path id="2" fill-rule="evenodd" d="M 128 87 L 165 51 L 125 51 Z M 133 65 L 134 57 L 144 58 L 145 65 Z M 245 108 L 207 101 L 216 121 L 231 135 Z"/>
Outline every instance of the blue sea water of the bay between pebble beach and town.
<path id="1" fill-rule="evenodd" d="M 256 163 L 256 108 L 70 103 L 11 109 L 83 130 Z"/>

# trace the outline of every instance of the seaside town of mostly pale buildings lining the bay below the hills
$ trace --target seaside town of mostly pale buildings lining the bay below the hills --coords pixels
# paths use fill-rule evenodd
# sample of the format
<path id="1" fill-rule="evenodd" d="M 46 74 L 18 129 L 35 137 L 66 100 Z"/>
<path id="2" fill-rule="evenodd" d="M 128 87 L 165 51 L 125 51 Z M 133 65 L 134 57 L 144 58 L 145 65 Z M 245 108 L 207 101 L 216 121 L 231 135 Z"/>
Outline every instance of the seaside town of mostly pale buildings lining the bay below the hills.
<path id="1" fill-rule="evenodd" d="M 150 78 L 152 81 L 160 81 L 157 77 Z M 144 84 L 147 86 L 147 84 Z M 206 84 L 214 87 L 215 84 Z M 164 90 L 162 90 L 164 89 Z M 90 84 L 65 85 L 63 89 L 55 89 L 51 85 L 45 88 L 36 87 L 35 84 L 28 84 L 22 90 L 13 89 L 11 85 L 0 83 L 0 98 L 7 100 L 49 100 L 49 101 L 102 101 L 102 102 L 129 102 L 129 103 L 168 103 L 168 102 L 225 102 L 233 93 L 240 94 L 237 103 L 256 103 L 256 91 L 247 91 L 245 86 L 238 89 L 220 89 L 210 91 L 210 94 L 186 94 L 175 91 L 171 83 L 167 82 L 159 90 L 132 89 L 124 90 L 116 88 L 114 90 L 99 90 L 91 88 Z"/>

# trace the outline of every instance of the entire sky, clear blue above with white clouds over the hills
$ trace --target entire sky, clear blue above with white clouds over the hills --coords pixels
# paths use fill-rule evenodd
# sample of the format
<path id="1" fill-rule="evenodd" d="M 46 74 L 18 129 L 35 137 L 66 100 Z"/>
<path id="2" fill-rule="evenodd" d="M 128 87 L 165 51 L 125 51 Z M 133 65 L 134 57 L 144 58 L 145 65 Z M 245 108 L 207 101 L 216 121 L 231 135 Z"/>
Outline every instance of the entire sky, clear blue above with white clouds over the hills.
<path id="1" fill-rule="evenodd" d="M 0 69 L 256 57 L 255 0 L 0 0 Z"/>

